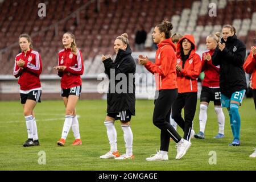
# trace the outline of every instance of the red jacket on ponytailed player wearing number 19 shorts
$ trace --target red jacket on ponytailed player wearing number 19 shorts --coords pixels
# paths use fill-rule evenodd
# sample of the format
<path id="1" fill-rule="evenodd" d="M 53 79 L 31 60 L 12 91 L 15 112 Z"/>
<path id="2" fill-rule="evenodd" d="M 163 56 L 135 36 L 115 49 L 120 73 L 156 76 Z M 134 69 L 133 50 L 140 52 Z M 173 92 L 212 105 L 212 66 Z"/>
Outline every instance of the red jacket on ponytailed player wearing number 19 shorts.
<path id="1" fill-rule="evenodd" d="M 76 54 L 74 55 L 70 48 L 62 49 L 59 52 L 58 65 L 67 67 L 64 72 L 58 72 L 61 77 L 60 86 L 62 89 L 82 85 L 81 75 L 84 73 L 84 61 L 79 49 L 77 49 Z"/>

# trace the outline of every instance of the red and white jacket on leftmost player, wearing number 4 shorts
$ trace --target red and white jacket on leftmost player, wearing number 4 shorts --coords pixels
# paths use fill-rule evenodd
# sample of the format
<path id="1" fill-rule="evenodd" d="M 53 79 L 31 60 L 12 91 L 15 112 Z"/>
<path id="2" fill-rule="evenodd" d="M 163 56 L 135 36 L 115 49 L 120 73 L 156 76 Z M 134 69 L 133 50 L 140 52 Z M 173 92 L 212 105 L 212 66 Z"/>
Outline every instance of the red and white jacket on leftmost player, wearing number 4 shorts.
<path id="1" fill-rule="evenodd" d="M 20 68 L 16 61 L 22 59 L 25 61 L 23 69 Z M 15 78 L 19 77 L 18 84 L 20 90 L 28 91 L 32 89 L 41 89 L 40 74 L 42 73 L 42 61 L 41 56 L 37 51 L 27 51 L 26 55 L 24 52 L 19 53 L 15 57 L 13 75 Z"/>

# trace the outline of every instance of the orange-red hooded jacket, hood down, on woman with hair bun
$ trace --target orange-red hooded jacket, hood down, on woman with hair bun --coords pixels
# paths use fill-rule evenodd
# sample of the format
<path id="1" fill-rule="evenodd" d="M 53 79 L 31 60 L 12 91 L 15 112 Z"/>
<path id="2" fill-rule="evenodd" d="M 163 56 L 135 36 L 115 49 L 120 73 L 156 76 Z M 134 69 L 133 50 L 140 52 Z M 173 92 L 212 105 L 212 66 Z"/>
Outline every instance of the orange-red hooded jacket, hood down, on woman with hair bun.
<path id="1" fill-rule="evenodd" d="M 147 61 L 145 68 L 155 75 L 156 89 L 176 89 L 176 67 L 175 67 L 175 44 L 171 38 L 165 39 L 158 44 L 155 55 L 155 64 Z M 155 74 L 156 73 L 156 74 Z"/>

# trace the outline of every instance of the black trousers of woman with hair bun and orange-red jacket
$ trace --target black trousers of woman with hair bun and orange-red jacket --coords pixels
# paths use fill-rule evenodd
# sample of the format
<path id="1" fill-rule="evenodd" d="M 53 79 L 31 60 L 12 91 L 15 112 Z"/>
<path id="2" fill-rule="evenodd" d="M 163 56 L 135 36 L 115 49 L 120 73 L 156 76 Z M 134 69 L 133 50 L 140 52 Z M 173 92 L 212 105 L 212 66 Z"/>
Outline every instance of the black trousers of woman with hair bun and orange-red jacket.
<path id="1" fill-rule="evenodd" d="M 170 124 L 171 107 L 177 97 L 177 89 L 159 90 L 155 100 L 153 123 L 161 130 L 160 150 L 168 151 L 170 137 L 177 143 L 181 140 L 180 135 Z"/>

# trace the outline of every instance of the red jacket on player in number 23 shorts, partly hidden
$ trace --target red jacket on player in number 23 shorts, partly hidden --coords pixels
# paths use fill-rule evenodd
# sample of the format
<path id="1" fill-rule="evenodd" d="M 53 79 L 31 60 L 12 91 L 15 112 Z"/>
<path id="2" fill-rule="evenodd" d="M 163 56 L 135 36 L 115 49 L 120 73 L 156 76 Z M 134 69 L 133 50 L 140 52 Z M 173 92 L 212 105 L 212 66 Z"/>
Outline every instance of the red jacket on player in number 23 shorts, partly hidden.
<path id="1" fill-rule="evenodd" d="M 204 60 L 204 54 L 213 55 L 215 49 L 204 52 L 202 56 L 202 72 L 204 71 L 204 80 L 202 86 L 209 88 L 220 88 L 220 65 L 217 67 L 212 64 L 212 60 Z"/>

